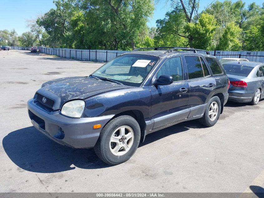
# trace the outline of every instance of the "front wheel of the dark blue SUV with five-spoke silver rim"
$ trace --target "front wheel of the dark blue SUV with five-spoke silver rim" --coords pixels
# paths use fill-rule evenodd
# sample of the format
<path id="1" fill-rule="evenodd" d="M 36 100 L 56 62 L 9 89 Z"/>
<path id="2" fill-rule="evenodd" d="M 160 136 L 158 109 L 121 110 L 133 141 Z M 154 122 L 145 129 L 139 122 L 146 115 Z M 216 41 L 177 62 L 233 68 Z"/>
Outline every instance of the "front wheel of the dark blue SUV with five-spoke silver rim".
<path id="1" fill-rule="evenodd" d="M 139 141 L 139 124 L 133 117 L 122 115 L 105 125 L 94 151 L 105 163 L 117 165 L 130 159 L 137 150 Z"/>

